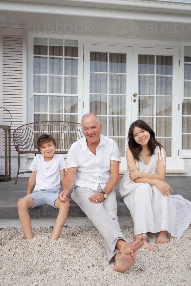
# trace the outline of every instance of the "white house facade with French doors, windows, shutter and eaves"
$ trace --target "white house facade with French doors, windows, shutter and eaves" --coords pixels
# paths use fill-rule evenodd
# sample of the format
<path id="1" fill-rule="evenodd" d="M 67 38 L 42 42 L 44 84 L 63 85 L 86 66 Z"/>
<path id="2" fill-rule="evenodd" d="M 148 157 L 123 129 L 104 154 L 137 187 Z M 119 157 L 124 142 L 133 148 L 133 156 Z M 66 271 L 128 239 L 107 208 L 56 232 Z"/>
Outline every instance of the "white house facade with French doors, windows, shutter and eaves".
<path id="1" fill-rule="evenodd" d="M 190 14 L 191 1 L 0 1 L 0 106 L 11 131 L 94 112 L 125 170 L 128 129 L 141 119 L 166 149 L 167 169 L 191 175 Z M 2 108 L 0 120 L 10 124 Z M 3 138 L 0 130 L 1 174 Z M 32 158 L 21 155 L 20 170 Z"/>

